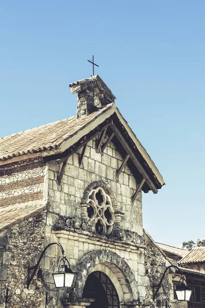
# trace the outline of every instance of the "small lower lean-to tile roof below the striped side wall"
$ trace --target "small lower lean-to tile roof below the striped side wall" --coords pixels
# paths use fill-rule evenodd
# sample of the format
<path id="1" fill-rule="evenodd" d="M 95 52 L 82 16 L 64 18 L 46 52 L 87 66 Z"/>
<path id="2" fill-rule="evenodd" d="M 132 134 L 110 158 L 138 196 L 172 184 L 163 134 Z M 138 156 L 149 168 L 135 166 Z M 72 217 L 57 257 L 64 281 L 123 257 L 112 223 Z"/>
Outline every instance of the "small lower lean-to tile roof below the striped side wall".
<path id="1" fill-rule="evenodd" d="M 0 232 L 4 229 L 10 229 L 15 224 L 27 220 L 44 210 L 46 210 L 45 203 L 39 204 L 39 201 L 0 208 Z"/>

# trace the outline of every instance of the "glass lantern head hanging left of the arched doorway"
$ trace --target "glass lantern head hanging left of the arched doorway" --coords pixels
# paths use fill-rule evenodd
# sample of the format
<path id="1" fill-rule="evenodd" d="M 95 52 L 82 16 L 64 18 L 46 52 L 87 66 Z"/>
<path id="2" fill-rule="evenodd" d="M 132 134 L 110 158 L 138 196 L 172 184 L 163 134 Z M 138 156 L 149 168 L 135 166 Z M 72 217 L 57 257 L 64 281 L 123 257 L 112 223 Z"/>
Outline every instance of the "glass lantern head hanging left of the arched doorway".
<path id="1" fill-rule="evenodd" d="M 61 261 L 63 261 L 64 264 L 60 266 Z M 68 266 L 65 264 L 66 262 L 68 263 Z M 75 273 L 73 273 L 70 268 L 68 259 L 66 257 L 61 258 L 58 263 L 57 271 L 53 273 L 55 287 L 71 287 L 74 275 Z"/>

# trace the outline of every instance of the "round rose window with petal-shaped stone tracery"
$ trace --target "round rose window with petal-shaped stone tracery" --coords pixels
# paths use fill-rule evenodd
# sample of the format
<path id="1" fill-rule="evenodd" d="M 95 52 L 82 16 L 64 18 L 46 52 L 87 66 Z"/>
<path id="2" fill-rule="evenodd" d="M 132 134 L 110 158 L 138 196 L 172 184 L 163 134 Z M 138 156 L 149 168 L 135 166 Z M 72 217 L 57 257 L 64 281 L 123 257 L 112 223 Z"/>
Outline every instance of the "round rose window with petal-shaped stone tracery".
<path id="1" fill-rule="evenodd" d="M 94 188 L 88 195 L 89 206 L 87 208 L 90 221 L 95 223 L 95 231 L 98 234 L 110 234 L 115 221 L 114 209 L 110 196 L 102 187 Z"/>

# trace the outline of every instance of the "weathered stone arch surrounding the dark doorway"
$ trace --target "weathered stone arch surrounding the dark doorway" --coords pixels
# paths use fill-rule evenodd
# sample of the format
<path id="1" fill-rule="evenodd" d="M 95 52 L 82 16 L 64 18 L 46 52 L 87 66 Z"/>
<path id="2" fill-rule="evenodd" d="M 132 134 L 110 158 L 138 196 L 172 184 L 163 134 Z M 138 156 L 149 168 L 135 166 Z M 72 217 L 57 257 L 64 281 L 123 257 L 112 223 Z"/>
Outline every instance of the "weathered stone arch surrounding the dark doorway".
<path id="1" fill-rule="evenodd" d="M 86 254 L 75 266 L 72 300 L 81 299 L 86 280 L 92 272 L 105 273 L 114 284 L 120 303 L 126 304 L 138 300 L 138 285 L 127 262 L 116 253 L 105 250 L 92 251 Z"/>

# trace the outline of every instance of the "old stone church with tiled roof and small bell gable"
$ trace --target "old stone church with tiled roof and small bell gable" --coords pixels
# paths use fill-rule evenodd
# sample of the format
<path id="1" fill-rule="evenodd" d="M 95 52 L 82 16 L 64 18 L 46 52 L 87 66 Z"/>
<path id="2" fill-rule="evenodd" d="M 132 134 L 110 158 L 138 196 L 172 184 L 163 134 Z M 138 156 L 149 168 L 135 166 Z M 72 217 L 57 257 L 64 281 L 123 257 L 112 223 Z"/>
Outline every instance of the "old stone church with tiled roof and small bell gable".
<path id="1" fill-rule="evenodd" d="M 152 286 L 171 263 L 142 226 L 142 191 L 156 194 L 163 178 L 98 75 L 69 86 L 76 116 L 0 139 L 0 307 L 167 306 Z M 72 287 L 53 290 L 52 245 L 27 288 L 52 242 Z"/>

